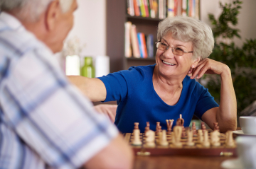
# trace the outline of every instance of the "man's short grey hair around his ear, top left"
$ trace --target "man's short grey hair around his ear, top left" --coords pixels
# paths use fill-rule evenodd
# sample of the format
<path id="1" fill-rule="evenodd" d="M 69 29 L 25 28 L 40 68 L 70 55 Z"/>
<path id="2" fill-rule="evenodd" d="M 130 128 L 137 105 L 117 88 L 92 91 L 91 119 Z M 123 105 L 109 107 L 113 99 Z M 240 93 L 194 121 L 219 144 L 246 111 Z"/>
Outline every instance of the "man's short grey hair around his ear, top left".
<path id="1" fill-rule="evenodd" d="M 47 6 L 54 0 L 0 0 L 1 11 L 18 10 L 18 17 L 28 21 L 36 21 Z M 74 0 L 60 0 L 63 13 L 70 9 Z"/>

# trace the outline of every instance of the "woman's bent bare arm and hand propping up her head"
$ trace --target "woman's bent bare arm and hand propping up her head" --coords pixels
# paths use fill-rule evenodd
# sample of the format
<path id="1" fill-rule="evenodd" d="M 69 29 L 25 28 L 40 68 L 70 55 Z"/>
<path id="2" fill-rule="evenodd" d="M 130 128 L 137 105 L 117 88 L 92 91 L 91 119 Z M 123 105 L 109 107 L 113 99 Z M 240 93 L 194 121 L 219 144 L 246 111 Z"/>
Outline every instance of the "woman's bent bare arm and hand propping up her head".
<path id="1" fill-rule="evenodd" d="M 213 122 L 218 122 L 220 132 L 235 130 L 237 127 L 237 103 L 229 67 L 212 59 L 204 59 L 192 70 L 192 74 L 191 78 L 201 78 L 203 74 L 220 75 L 220 106 L 206 111 L 202 120 L 211 129 L 213 129 Z M 196 77 L 196 75 L 198 76 Z"/>

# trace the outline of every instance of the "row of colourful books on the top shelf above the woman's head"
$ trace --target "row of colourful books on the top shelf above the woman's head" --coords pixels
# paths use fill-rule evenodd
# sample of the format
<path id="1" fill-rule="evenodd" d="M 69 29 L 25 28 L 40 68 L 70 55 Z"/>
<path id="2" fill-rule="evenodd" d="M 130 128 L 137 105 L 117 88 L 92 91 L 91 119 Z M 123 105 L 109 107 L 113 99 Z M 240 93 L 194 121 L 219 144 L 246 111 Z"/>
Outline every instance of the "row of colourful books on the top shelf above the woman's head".
<path id="1" fill-rule="evenodd" d="M 200 0 L 127 0 L 127 13 L 164 19 L 172 16 L 190 16 L 199 19 Z"/>

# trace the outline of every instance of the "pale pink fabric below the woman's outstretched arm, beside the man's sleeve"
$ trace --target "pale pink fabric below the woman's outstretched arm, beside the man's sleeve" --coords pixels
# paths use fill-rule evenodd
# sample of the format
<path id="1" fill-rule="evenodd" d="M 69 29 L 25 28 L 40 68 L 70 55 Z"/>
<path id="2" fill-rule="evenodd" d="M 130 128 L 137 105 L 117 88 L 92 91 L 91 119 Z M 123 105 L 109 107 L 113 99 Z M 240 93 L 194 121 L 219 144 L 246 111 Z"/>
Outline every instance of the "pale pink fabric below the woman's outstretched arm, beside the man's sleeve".
<path id="1" fill-rule="evenodd" d="M 115 116 L 117 113 L 117 105 L 100 104 L 95 105 L 94 108 L 97 112 L 100 112 L 104 115 L 107 115 L 107 117 L 110 117 L 110 121 L 114 123 Z"/>

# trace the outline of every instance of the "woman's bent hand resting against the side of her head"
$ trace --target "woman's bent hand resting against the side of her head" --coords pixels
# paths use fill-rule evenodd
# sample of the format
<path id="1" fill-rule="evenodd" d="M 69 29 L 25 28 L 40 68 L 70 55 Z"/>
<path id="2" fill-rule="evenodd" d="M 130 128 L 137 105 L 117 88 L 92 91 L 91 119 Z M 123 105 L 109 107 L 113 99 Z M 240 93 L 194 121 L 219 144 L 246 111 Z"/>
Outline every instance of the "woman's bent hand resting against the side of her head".
<path id="1" fill-rule="evenodd" d="M 227 71 L 229 67 L 223 63 L 217 62 L 213 59 L 203 59 L 195 68 L 191 68 L 188 74 L 192 74 L 191 79 L 201 78 L 203 74 L 218 74 L 221 75 Z M 198 76 L 197 76 L 198 75 Z"/>

